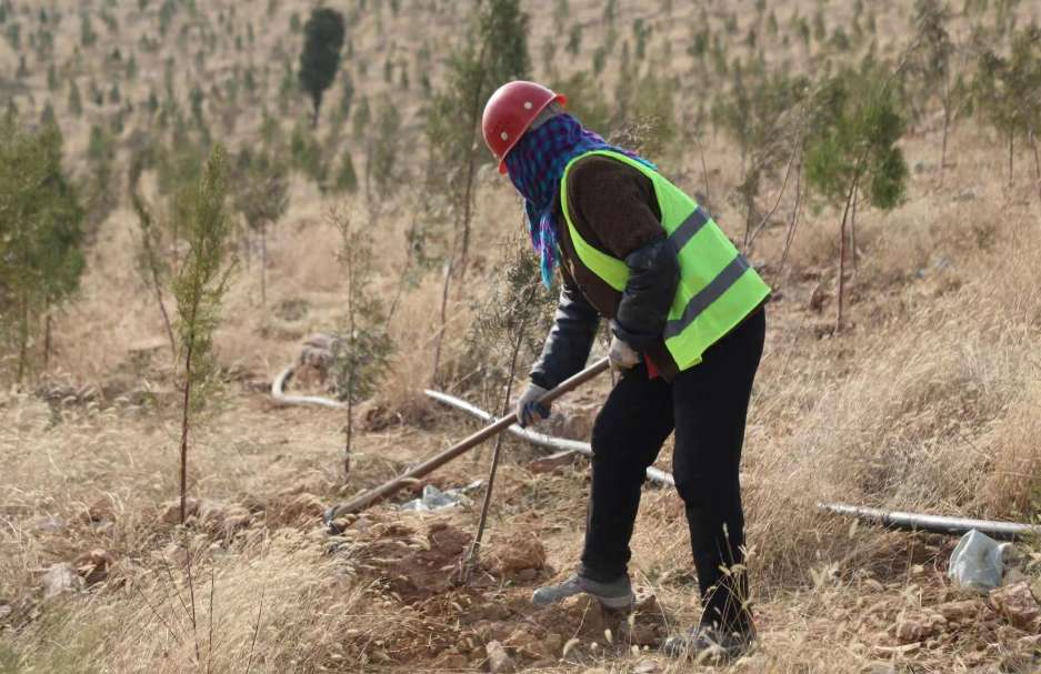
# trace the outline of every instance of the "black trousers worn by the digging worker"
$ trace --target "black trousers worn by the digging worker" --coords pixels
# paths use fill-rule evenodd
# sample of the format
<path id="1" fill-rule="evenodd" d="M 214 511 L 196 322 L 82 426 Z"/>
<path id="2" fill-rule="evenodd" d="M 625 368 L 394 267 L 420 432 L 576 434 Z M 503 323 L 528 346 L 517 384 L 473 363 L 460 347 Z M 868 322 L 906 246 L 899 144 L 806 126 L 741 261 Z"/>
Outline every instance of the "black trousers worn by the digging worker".
<path id="1" fill-rule="evenodd" d="M 611 582 L 625 573 L 644 471 L 674 429 L 672 471 L 687 506 L 702 626 L 751 628 L 747 575 L 731 567 L 744 560 L 739 465 L 765 325 L 757 311 L 672 383 L 648 379 L 641 365 L 611 391 L 593 426 L 583 575 Z"/>

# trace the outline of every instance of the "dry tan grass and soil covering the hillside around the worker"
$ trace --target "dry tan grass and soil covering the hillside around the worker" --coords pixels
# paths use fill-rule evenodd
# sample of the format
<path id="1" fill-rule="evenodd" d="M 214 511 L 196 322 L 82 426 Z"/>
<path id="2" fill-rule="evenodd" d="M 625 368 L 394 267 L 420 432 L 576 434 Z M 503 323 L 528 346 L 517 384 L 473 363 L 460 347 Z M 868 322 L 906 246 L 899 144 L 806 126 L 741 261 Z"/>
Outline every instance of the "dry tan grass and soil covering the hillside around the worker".
<path id="1" fill-rule="evenodd" d="M 24 9 L 36 3 L 16 4 L 28 24 Z M 153 31 L 153 18 L 141 17 L 136 0 L 96 0 L 89 4 L 111 8 L 120 31 L 108 34 L 96 21 L 99 44 L 76 57 L 81 3 L 43 4 L 67 14 L 58 62 L 69 63 L 84 98 L 91 78 L 106 88 L 106 52 Z M 142 101 L 149 88 L 161 88 L 167 56 L 184 66 L 182 98 L 197 80 L 218 78 L 250 59 L 263 62 L 277 43 L 296 59 L 299 36 L 289 32 L 289 17 L 310 7 L 283 0 L 268 17 L 266 2 L 197 4 L 211 20 L 232 7 L 240 20 L 256 14 L 256 44 L 237 52 L 230 40 L 222 41 L 219 56 L 198 71 L 190 66 L 194 50 L 177 46 L 174 28 L 158 53 L 137 51 L 141 76 L 124 84 L 126 95 Z M 388 50 L 411 59 L 417 36 L 430 40 L 436 61 L 451 48 L 464 2 L 431 3 L 438 8 L 433 14 L 427 4 L 403 0 L 398 17 L 383 7 L 382 33 L 371 11 L 351 28 L 356 57 L 348 67 L 370 102 L 394 91 L 381 77 Z M 657 2 L 620 2 L 619 26 L 628 31 L 635 17 L 652 21 L 659 31 L 652 59 L 683 74 L 690 70 L 683 44 L 700 4 L 673 4 L 665 17 Z M 713 21 L 722 21 L 722 4 L 709 4 Z M 753 13 L 752 2 L 733 4 L 739 17 Z M 808 17 L 815 8 L 768 4 L 777 4 L 782 32 L 792 8 Z M 905 38 L 909 3 L 865 4 L 879 6 L 882 51 L 893 53 Z M 539 46 L 552 30 L 552 6 L 527 3 L 537 71 Z M 570 6 L 585 26 L 579 57 L 584 63 L 603 37 L 602 9 L 587 0 Z M 825 2 L 829 26 L 848 22 L 852 7 Z M 1037 7 L 1021 12 L 1025 20 Z M 669 42 L 673 56 L 667 58 Z M 789 51 L 767 42 L 771 61 L 791 59 L 798 68 L 801 44 L 793 41 Z M 7 83 L 14 53 L 0 44 Z M 364 76 L 362 60 L 369 62 Z M 44 70 L 36 67 L 24 80 L 31 100 L 17 97 L 32 119 L 27 111 L 38 112 L 48 100 Z M 412 74 L 412 90 L 396 95 L 408 138 L 419 142 Z M 431 74 L 438 85 L 440 67 Z M 274 67 L 272 109 L 278 77 Z M 612 78 L 609 66 L 609 88 Z M 77 120 L 64 110 L 64 85 L 52 95 L 68 163 L 79 171 L 89 124 L 106 111 L 88 104 Z M 330 108 L 337 97 L 336 89 L 328 94 Z M 692 83 L 678 92 L 678 110 L 695 97 Z M 230 122 L 213 124 L 214 135 L 232 148 L 251 142 L 260 122 L 254 105 L 243 103 L 237 112 Z M 283 125 L 306 113 L 301 97 Z M 218 105 L 211 114 L 220 119 Z M 128 137 L 142 119 L 131 117 Z M 779 290 L 768 312 L 743 464 L 761 645 L 728 671 L 1038 671 L 1041 623 L 1017 624 L 985 600 L 952 589 L 944 576 L 952 541 L 851 526 L 814 507 L 840 500 L 1037 516 L 1041 204 L 1034 178 L 1023 168 L 1009 188 L 1005 159 L 995 151 L 1000 142 L 970 120 L 952 138 L 952 168 L 938 188 L 938 131 L 939 121 L 927 115 L 901 143 L 912 167 L 921 162 L 905 202 L 889 214 L 860 217 L 852 325 L 843 333 L 831 330 L 835 214 L 807 211 L 781 273 L 783 228 L 768 229 L 757 244 L 755 262 Z M 725 193 L 738 181 L 738 158 L 722 134 L 707 133 L 703 141 L 711 190 Z M 119 161 L 126 160 L 121 154 Z M 1020 162 L 1025 167 L 1027 158 Z M 665 165 L 681 184 L 702 189 L 697 152 L 681 152 Z M 172 524 L 167 505 L 177 490 L 176 390 L 158 312 L 133 270 L 133 213 L 121 203 L 99 225 L 81 292 L 56 329 L 51 371 L 32 385 L 0 393 L 0 672 L 480 671 L 489 641 L 503 643 L 523 671 L 688 671 L 644 647 L 698 615 L 687 525 L 674 493 L 645 491 L 632 571 L 641 595 L 655 600 L 643 603 L 631 623 L 584 602 L 544 611 L 527 601 L 540 582 L 567 573 L 577 561 L 588 474 L 581 461 L 534 473 L 528 463 L 539 452 L 514 441 L 507 443 L 492 504 L 486 567 L 471 587 L 451 587 L 448 577 L 472 534 L 477 509 L 409 514 L 378 506 L 352 519 L 343 535 L 326 534 L 319 520 L 324 506 L 393 476 L 471 429 L 419 394 L 431 374 L 440 299 L 436 272 L 404 295 L 391 325 L 398 352 L 369 404 L 347 485 L 337 473 L 340 415 L 279 408 L 268 399 L 267 382 L 292 360 L 300 340 L 334 329 L 341 314 L 336 233 L 323 217 L 334 201 L 294 177 L 288 215 L 268 243 L 268 313 L 260 311 L 252 271 L 240 273 L 229 291 L 217 338 L 228 394 L 196 436 L 197 501 L 186 529 Z M 360 200 L 356 205 L 362 212 Z M 404 259 L 410 213 L 424 207 L 423 194 L 403 189 L 378 223 L 383 273 L 376 286 L 383 296 L 393 292 Z M 718 208 L 728 229 L 742 220 L 731 207 Z M 491 171 L 481 174 L 479 244 L 447 342 L 447 359 L 460 372 L 476 366 L 463 336 L 469 306 L 496 278 L 500 247 L 491 242 L 519 225 L 518 209 L 507 181 Z M 559 405 L 561 414 L 588 425 L 589 410 L 608 385 L 599 382 L 572 396 Z M 461 459 L 432 482 L 467 484 L 483 475 L 487 459 Z M 668 449 L 660 464 L 668 467 Z M 534 540 L 541 545 L 532 545 Z M 1031 556 L 1029 545 L 1022 551 L 1022 569 L 1037 576 L 1041 556 Z M 44 598 L 44 574 L 58 564 L 71 564 L 82 580 L 73 591 Z M 969 603 L 954 606 L 959 601 Z M 943 621 L 930 617 L 935 614 Z M 927 626 L 915 631 L 920 623 Z"/>

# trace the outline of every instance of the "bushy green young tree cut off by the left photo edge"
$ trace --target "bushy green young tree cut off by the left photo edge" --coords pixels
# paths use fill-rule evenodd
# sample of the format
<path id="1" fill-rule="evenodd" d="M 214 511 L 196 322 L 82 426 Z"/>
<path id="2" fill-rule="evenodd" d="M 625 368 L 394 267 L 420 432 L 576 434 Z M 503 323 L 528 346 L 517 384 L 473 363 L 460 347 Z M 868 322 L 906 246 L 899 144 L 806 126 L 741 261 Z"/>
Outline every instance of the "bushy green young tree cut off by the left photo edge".
<path id="1" fill-rule="evenodd" d="M 19 382 L 41 318 L 48 359 L 50 312 L 76 291 L 84 264 L 83 209 L 61 153 L 57 127 L 27 133 L 0 121 L 0 324 L 14 329 Z"/>

